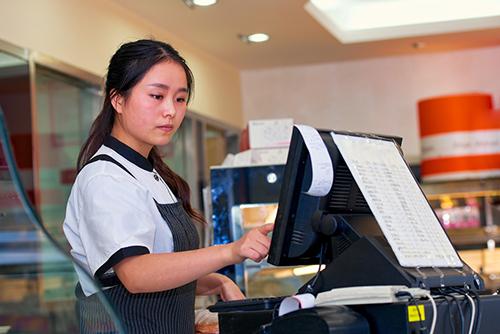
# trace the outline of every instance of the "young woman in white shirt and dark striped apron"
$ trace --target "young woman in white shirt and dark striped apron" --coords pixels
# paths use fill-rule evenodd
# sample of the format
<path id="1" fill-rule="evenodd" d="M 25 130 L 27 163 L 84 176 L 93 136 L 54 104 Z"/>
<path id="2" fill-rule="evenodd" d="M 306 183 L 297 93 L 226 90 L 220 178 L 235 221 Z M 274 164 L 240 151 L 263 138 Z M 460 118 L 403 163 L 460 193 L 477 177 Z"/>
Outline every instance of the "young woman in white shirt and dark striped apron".
<path id="1" fill-rule="evenodd" d="M 64 233 L 72 256 L 103 286 L 128 333 L 194 333 L 195 294 L 244 298 L 214 273 L 269 250 L 272 225 L 198 249 L 187 183 L 162 161 L 182 123 L 193 75 L 170 45 L 139 40 L 113 55 L 102 110 L 78 157 Z M 82 300 L 96 292 L 80 279 Z M 84 305 L 83 303 L 82 305 Z"/>

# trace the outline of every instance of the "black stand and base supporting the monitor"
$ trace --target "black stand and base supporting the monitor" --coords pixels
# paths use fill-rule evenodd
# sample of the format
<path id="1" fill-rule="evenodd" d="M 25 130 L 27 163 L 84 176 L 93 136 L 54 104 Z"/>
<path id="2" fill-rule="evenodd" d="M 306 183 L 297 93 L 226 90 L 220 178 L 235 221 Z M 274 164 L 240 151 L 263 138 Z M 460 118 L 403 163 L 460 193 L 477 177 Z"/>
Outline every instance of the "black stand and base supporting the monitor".
<path id="1" fill-rule="evenodd" d="M 382 236 L 362 236 L 356 228 L 356 217 L 344 216 L 336 232 L 328 240 L 329 263 L 314 286 L 313 279 L 299 293 L 329 291 L 334 288 L 370 285 L 405 285 L 425 289 L 468 286 L 475 291 L 484 289 L 482 279 L 466 264 L 462 268 L 421 267 L 399 265 L 387 240 Z M 366 216 L 363 226 L 366 228 Z M 351 224 L 352 220 L 352 224 Z M 371 218 L 371 224 L 377 224 Z M 338 222 L 338 220 L 337 220 Z M 309 290 L 309 291 L 308 291 Z"/>

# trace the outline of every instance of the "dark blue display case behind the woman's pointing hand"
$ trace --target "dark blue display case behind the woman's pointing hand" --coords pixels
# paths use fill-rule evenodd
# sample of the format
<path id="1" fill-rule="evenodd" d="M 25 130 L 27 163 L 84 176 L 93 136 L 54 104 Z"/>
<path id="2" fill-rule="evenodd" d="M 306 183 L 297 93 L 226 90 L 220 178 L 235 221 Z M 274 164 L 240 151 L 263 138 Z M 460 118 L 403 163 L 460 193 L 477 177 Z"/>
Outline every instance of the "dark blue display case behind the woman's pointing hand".
<path id="1" fill-rule="evenodd" d="M 211 168 L 214 244 L 230 243 L 254 227 L 274 222 L 283 172 L 284 165 Z M 221 272 L 247 297 L 260 297 L 295 294 L 317 268 L 275 267 L 265 260 L 246 260 Z"/>

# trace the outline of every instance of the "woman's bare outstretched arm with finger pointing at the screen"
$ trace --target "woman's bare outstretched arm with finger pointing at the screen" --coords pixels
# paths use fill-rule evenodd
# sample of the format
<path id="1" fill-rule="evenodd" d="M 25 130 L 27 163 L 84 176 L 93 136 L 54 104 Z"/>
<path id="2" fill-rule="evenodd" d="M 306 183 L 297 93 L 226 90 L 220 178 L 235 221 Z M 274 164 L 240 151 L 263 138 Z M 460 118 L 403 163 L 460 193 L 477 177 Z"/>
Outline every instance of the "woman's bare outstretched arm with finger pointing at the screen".
<path id="1" fill-rule="evenodd" d="M 235 242 L 185 252 L 128 257 L 113 267 L 131 293 L 177 288 L 246 258 L 256 262 L 266 257 L 273 224 L 255 228 Z"/>

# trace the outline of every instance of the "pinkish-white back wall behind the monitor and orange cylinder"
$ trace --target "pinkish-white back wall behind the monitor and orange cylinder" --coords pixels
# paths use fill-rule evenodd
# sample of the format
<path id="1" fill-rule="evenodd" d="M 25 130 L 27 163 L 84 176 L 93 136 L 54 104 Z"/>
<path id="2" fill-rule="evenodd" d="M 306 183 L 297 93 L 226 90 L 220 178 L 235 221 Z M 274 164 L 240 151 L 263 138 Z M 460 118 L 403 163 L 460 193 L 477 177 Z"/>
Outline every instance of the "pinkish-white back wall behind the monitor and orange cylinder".
<path id="1" fill-rule="evenodd" d="M 246 120 L 399 135 L 411 162 L 420 155 L 417 101 L 471 91 L 498 106 L 500 47 L 242 72 Z"/>

